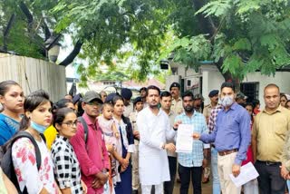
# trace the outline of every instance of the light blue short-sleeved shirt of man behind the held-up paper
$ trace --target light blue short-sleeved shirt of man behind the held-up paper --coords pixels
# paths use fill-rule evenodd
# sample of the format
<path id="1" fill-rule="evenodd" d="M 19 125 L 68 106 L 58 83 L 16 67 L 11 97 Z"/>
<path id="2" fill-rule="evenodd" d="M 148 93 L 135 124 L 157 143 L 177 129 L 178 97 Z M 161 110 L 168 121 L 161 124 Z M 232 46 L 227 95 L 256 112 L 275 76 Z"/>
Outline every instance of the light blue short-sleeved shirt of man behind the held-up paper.
<path id="1" fill-rule="evenodd" d="M 185 112 L 179 114 L 175 118 L 176 121 L 181 121 L 182 124 L 191 124 L 192 132 L 203 133 L 208 131 L 206 118 L 199 112 L 194 112 L 191 117 L 186 115 Z M 191 134 L 189 134 L 191 135 Z M 203 160 L 203 148 L 204 144 L 201 141 L 192 142 L 191 153 L 178 153 L 179 164 L 184 167 L 200 167 Z"/>

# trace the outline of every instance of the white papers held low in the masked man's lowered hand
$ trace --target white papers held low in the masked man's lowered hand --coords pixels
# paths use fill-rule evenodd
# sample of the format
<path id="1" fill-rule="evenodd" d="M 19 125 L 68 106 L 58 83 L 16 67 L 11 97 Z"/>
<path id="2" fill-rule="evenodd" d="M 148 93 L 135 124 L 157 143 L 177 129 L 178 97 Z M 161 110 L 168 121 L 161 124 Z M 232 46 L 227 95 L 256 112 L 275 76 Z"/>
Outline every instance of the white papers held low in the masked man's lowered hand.
<path id="1" fill-rule="evenodd" d="M 246 184 L 252 179 L 256 179 L 259 176 L 252 162 L 248 162 L 246 165 L 241 167 L 240 173 L 237 177 L 230 174 L 230 179 L 234 182 L 236 187 L 240 187 Z"/>

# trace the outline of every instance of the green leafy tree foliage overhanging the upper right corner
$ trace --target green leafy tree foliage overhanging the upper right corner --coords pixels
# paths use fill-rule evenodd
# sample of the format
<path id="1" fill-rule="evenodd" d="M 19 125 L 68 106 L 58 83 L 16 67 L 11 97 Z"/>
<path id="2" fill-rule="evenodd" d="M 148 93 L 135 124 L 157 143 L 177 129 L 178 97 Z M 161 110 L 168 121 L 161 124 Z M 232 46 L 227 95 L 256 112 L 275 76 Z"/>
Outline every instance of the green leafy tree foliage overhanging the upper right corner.
<path id="1" fill-rule="evenodd" d="M 200 60 L 213 60 L 226 80 L 242 80 L 256 71 L 271 75 L 289 65 L 288 1 L 193 0 L 182 4 L 193 7 L 188 13 L 195 13 L 191 21 L 200 32 L 177 29 L 176 34 L 182 35 L 167 50 L 176 53 L 175 60 L 195 68 Z M 183 15 L 188 20 L 188 14 Z M 177 26 L 184 25 L 182 17 Z"/>

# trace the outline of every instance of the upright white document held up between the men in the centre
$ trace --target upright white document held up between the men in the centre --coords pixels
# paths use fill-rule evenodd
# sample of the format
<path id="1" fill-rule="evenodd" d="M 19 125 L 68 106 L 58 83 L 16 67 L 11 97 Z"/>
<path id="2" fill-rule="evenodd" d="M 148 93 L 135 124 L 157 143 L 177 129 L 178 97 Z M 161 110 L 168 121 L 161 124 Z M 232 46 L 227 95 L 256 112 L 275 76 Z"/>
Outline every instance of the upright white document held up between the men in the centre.
<path id="1" fill-rule="evenodd" d="M 192 152 L 192 131 L 193 125 L 179 124 L 177 139 L 176 139 L 176 152 L 191 153 Z"/>

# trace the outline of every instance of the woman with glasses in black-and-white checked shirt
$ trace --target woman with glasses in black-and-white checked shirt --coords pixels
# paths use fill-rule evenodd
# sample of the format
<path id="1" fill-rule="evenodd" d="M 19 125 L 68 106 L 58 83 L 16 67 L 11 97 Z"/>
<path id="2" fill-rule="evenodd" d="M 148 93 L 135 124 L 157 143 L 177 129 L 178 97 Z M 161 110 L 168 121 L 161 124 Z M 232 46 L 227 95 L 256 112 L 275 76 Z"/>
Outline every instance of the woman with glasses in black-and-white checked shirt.
<path id="1" fill-rule="evenodd" d="M 57 110 L 53 126 L 58 131 L 52 145 L 55 179 L 62 193 L 87 193 L 87 187 L 81 180 L 79 161 L 70 143 L 77 130 L 77 117 L 70 108 Z"/>

